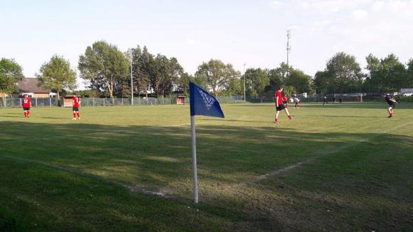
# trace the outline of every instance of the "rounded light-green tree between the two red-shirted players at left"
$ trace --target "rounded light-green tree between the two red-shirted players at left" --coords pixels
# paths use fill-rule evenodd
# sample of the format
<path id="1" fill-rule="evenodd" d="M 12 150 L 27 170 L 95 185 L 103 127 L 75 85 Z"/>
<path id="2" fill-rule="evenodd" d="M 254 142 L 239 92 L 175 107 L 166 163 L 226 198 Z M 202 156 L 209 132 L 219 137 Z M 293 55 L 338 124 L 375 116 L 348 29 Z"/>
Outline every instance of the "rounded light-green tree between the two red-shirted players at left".
<path id="1" fill-rule="evenodd" d="M 70 67 L 69 61 L 56 54 L 41 65 L 36 77 L 39 78 L 40 87 L 55 89 L 57 98 L 60 98 L 62 90 L 76 88 L 76 72 Z"/>

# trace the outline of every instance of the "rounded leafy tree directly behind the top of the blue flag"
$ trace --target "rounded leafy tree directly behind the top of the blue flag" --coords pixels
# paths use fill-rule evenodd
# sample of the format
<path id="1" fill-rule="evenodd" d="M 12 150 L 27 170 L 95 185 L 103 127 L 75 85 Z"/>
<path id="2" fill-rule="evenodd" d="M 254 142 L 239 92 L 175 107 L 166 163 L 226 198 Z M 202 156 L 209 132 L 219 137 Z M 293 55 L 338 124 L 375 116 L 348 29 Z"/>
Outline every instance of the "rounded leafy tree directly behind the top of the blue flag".
<path id="1" fill-rule="evenodd" d="M 195 73 L 197 81 L 207 85 L 214 96 L 229 89 L 231 80 L 240 78 L 240 72 L 233 69 L 231 64 L 224 64 L 220 60 L 211 59 L 208 63 L 198 66 Z"/>

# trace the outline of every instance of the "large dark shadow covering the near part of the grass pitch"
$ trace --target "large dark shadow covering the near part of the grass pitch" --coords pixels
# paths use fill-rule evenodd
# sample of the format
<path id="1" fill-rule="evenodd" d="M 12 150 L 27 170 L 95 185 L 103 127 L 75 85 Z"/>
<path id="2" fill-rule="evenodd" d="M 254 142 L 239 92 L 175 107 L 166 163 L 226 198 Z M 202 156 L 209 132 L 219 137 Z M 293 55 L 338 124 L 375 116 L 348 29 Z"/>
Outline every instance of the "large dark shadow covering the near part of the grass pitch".
<path id="1" fill-rule="evenodd" d="M 189 127 L 0 122 L 0 128 L 0 141 L 5 141 L 0 142 L 0 194 L 3 198 L 0 200 L 0 217 L 3 211 L 6 212 L 3 215 L 8 215 L 5 218 L 12 218 L 8 220 L 10 222 L 25 218 L 17 220 L 16 228 L 22 226 L 32 230 L 35 228 L 32 221 L 36 221 L 44 230 L 50 231 L 61 226 L 68 231 L 132 231 L 134 226 L 137 226 L 135 230 L 141 231 L 317 231 L 319 228 L 337 229 L 335 223 L 346 223 L 346 220 L 355 223 L 348 229 L 357 231 L 363 228 L 364 222 L 349 215 L 350 218 L 322 215 L 319 209 L 326 207 L 322 201 L 299 195 L 300 191 L 306 190 L 315 196 L 320 189 L 328 189 L 329 186 L 322 184 L 334 184 L 334 181 L 328 181 L 329 178 L 334 177 L 335 181 L 339 178 L 329 172 L 322 173 L 323 176 L 317 176 L 321 175 L 317 172 L 319 169 L 301 173 L 324 180 L 315 183 L 308 180 L 302 185 L 297 184 L 300 183 L 299 177 L 293 175 L 292 178 L 297 180 L 290 181 L 291 187 L 285 189 L 277 188 L 277 177 L 270 178 L 268 182 L 233 186 L 308 158 L 339 153 L 344 151 L 342 147 L 366 146 L 361 151 L 350 149 L 345 156 L 356 158 L 342 158 L 339 160 L 341 165 L 335 166 L 338 170 L 329 169 L 346 177 L 346 172 L 341 171 L 346 170 L 346 164 L 363 167 L 372 162 L 374 156 L 363 155 L 370 154 L 371 147 L 385 148 L 396 156 L 398 149 L 412 149 L 413 143 L 410 136 L 392 134 L 315 134 L 277 126 L 197 125 L 202 203 L 197 206 L 201 211 L 196 211 L 193 209 L 195 206 L 189 203 L 192 195 Z M 10 134 L 17 138 L 10 140 Z M 366 138 L 371 138 L 371 141 L 360 142 Z M 391 138 L 391 143 L 382 146 L 375 143 L 377 140 L 388 141 L 388 138 Z M 411 162 L 411 159 L 398 157 L 394 160 L 396 165 L 374 163 L 391 167 L 388 169 L 390 173 L 398 171 L 398 164 Z M 23 159 L 41 162 L 25 162 Z M 326 165 L 331 164 L 327 162 Z M 74 171 L 55 169 L 54 166 Z M 354 170 L 359 178 L 377 175 L 375 172 L 366 173 L 365 169 Z M 76 175 L 76 171 L 89 176 Z M 413 174 L 412 170 L 403 168 L 401 171 Z M 284 176 L 285 182 L 290 180 L 288 176 Z M 392 185 L 392 178 L 394 176 L 383 173 L 383 181 L 396 187 Z M 116 182 L 167 191 L 173 199 L 145 194 L 131 196 Z M 406 187 L 406 183 L 397 184 L 402 184 L 396 188 L 401 191 L 403 201 L 408 200 L 405 196 L 409 195 L 411 188 Z M 349 196 L 360 193 L 354 184 L 346 187 Z M 335 189 L 335 194 L 340 194 L 340 190 Z M 363 199 L 381 193 L 360 193 L 362 197 L 355 198 L 359 201 L 359 208 L 346 207 L 344 203 L 341 207 L 370 220 L 372 215 L 359 211 L 387 212 L 388 209 L 383 208 L 380 202 L 364 207 Z M 291 196 L 296 196 L 296 202 L 290 202 Z M 383 193 L 383 199 L 394 204 L 395 199 L 387 197 Z M 36 206 L 36 202 L 41 202 L 41 207 Z M 188 205 L 191 208 L 188 209 Z M 276 212 L 268 211 L 269 206 Z M 303 209 L 302 212 L 299 209 Z M 308 217 L 312 212 L 319 218 Z M 393 213 L 401 215 L 402 212 L 394 209 Z M 374 223 L 382 225 L 384 230 L 399 226 L 385 224 L 384 221 L 383 224 Z"/>

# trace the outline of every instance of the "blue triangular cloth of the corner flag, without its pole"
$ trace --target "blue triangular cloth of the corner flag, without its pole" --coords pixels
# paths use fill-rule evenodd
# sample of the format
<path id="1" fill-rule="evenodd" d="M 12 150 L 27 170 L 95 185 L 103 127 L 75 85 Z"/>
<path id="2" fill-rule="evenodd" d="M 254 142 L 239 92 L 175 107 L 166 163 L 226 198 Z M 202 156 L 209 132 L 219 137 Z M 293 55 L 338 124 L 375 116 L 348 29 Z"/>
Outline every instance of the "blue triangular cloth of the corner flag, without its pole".
<path id="1" fill-rule="evenodd" d="M 189 83 L 191 116 L 204 115 L 224 118 L 224 113 L 217 99 L 194 83 Z"/>

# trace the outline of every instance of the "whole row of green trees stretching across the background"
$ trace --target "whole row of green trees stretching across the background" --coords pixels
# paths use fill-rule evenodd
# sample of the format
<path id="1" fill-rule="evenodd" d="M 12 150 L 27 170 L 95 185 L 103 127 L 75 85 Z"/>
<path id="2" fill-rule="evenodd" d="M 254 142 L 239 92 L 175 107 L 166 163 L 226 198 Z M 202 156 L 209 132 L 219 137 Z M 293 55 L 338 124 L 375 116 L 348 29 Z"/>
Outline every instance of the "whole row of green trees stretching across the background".
<path id="1" fill-rule="evenodd" d="M 85 80 L 88 96 L 131 96 L 131 70 L 133 92 L 136 96 L 165 98 L 174 91 L 188 95 L 189 81 L 209 90 L 214 96 L 246 95 L 250 98 L 270 97 L 279 86 L 286 94 L 333 94 L 352 92 L 398 92 L 413 87 L 413 59 L 401 63 L 394 54 L 379 59 L 369 54 L 363 72 L 354 56 L 338 52 L 326 63 L 326 68 L 315 76 L 281 63 L 273 69 L 248 68 L 244 74 L 230 63 L 211 59 L 198 66 L 194 75 L 184 72 L 175 57 L 151 54 L 147 47 L 121 52 L 116 45 L 96 41 L 79 56 L 79 76 Z M 41 65 L 39 87 L 49 88 L 58 96 L 76 88 L 76 70 L 70 62 L 55 54 Z M 18 81 L 23 78 L 22 67 L 14 59 L 0 60 L 0 92 L 17 92 Z"/>

